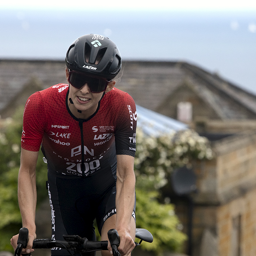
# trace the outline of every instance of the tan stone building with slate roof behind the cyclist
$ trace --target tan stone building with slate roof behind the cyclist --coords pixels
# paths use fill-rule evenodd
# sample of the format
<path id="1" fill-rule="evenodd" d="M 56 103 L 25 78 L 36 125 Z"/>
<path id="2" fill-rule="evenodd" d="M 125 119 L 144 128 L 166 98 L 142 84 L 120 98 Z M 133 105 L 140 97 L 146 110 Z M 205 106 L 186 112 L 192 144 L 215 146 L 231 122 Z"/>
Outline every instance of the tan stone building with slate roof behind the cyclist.
<path id="1" fill-rule="evenodd" d="M 0 60 L 0 115 L 11 116 L 36 90 L 65 82 L 64 61 Z M 184 62 L 127 61 L 117 87 L 136 104 L 178 119 L 211 140 L 215 158 L 192 163 L 196 193 L 176 203 L 193 256 L 256 255 L 256 96 Z M 184 249 L 187 251 L 187 248 Z"/>

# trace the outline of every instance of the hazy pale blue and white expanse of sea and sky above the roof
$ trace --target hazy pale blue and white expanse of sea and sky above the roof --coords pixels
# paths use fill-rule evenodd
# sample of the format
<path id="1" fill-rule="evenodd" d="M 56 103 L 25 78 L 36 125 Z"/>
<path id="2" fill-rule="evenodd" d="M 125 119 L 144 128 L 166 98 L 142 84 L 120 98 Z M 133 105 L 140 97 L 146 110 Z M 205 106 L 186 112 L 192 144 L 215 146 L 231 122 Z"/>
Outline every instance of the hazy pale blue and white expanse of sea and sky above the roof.
<path id="1" fill-rule="evenodd" d="M 127 60 L 182 60 L 256 94 L 256 1 L 32 1 L 0 4 L 0 58 L 64 59 L 83 34 Z"/>

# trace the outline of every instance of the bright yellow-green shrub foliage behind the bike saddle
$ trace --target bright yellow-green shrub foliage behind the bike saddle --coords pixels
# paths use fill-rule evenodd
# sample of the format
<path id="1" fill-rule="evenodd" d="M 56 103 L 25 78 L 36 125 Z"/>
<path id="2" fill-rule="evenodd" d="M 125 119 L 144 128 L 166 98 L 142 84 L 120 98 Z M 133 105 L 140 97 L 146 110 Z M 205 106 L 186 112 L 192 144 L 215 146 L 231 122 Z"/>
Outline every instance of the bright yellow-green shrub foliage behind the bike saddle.
<path id="1" fill-rule="evenodd" d="M 161 255 L 164 251 L 181 251 L 187 236 L 179 230 L 180 221 L 173 204 L 160 204 L 157 191 L 136 189 L 136 227 L 150 231 L 152 243 L 143 242 L 142 249 Z"/>

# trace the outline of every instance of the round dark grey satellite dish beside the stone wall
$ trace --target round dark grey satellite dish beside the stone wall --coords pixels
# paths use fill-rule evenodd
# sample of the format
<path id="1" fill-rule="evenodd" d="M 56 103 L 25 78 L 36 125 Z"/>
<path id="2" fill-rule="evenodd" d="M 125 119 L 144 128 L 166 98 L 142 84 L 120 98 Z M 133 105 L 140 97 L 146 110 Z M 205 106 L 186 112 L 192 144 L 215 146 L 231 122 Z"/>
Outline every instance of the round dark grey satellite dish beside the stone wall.
<path id="1" fill-rule="evenodd" d="M 196 175 L 186 166 L 173 170 L 172 186 L 177 195 L 187 195 L 196 191 Z"/>

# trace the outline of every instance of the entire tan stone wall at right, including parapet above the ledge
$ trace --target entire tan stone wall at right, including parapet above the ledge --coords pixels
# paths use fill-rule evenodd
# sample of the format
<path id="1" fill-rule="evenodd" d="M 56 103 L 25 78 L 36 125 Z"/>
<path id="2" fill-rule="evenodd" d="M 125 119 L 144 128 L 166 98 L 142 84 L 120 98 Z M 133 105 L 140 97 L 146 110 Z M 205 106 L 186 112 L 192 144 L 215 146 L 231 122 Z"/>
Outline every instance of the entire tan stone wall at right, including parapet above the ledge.
<path id="1" fill-rule="evenodd" d="M 255 256 L 256 133 L 231 136 L 213 148 L 215 159 L 193 163 L 193 256 Z M 177 213 L 187 227 L 184 209 Z"/>

